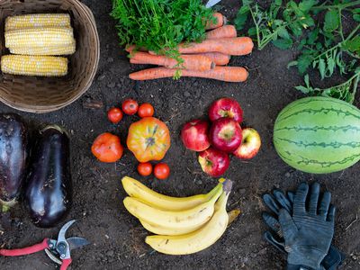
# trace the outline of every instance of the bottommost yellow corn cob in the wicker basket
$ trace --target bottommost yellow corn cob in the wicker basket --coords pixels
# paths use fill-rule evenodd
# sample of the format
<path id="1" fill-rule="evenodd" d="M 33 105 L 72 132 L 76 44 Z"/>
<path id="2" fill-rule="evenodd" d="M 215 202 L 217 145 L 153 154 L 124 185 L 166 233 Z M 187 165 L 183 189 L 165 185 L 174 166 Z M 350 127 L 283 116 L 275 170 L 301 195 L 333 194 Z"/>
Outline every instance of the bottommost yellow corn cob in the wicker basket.
<path id="1" fill-rule="evenodd" d="M 1 58 L 1 70 L 14 75 L 65 76 L 67 75 L 67 58 L 5 55 Z"/>

